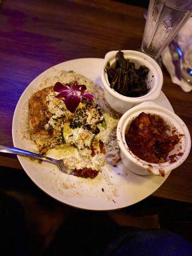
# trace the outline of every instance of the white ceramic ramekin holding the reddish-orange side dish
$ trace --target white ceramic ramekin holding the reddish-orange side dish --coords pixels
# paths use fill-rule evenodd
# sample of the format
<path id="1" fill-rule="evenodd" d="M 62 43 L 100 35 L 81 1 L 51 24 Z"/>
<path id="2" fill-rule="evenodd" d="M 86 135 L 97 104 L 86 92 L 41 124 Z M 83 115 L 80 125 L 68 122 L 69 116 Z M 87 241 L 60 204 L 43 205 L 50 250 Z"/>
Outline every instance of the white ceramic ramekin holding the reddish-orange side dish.
<path id="1" fill-rule="evenodd" d="M 180 153 L 177 155 L 177 157 L 175 157 L 174 163 L 171 163 L 171 161 L 160 164 L 148 163 L 136 157 L 127 146 L 125 141 L 125 132 L 127 131 L 132 120 L 140 115 L 141 112 L 161 116 L 166 124 L 170 125 L 172 129 L 176 128 L 179 134 L 184 134 L 184 136 L 180 138 L 178 145 L 176 145 L 174 150 L 172 150 L 172 152 L 169 154 L 169 156 L 171 156 L 173 154 Z M 162 108 L 153 102 L 141 103 L 140 105 L 129 109 L 126 113 L 124 113 L 118 122 L 116 136 L 118 145 L 120 147 L 120 155 L 125 167 L 140 175 L 148 175 L 153 173 L 155 175 L 164 176 L 166 173 L 177 168 L 186 160 L 191 148 L 191 138 L 186 124 L 184 124 L 184 122 L 179 118 L 179 116 L 175 115 L 175 113 L 169 111 L 168 109 Z"/>

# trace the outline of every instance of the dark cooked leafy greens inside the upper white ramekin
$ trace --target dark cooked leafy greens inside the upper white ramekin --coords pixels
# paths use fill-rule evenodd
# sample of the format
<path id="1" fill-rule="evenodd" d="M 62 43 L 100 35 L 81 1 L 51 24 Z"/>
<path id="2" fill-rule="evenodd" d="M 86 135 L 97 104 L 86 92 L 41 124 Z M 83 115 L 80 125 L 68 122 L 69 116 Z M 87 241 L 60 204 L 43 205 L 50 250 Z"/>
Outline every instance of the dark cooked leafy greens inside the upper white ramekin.
<path id="1" fill-rule="evenodd" d="M 133 62 L 124 58 L 124 52 L 116 54 L 115 67 L 108 62 L 106 72 L 110 87 L 127 97 L 140 97 L 148 93 L 146 78 L 149 68 L 141 65 L 136 68 Z"/>

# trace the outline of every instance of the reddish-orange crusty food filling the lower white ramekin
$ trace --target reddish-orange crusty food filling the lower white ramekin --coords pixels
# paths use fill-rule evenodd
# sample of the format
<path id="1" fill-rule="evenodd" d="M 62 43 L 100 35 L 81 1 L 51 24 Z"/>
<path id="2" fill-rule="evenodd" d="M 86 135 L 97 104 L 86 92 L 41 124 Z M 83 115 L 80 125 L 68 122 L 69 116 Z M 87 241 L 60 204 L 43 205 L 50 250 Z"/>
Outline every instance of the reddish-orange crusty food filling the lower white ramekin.
<path id="1" fill-rule="evenodd" d="M 175 132 L 168 134 L 168 131 L 170 126 L 163 118 L 142 112 L 131 122 L 125 140 L 140 159 L 148 163 L 164 163 L 180 140 Z"/>

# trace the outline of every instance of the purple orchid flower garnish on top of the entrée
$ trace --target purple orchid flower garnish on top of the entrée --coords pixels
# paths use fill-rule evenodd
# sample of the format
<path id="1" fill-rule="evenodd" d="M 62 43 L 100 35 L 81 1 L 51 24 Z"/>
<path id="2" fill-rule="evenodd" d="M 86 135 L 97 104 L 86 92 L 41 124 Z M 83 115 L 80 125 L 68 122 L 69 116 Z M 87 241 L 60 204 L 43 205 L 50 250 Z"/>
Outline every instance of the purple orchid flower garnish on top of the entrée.
<path id="1" fill-rule="evenodd" d="M 64 98 L 66 108 L 74 113 L 76 108 L 79 106 L 82 98 L 88 100 L 94 100 L 92 93 L 84 93 L 86 91 L 86 86 L 84 84 L 77 84 L 77 82 L 70 83 L 70 86 L 67 84 L 61 84 L 57 82 L 54 84 L 54 92 L 58 92 L 56 98 Z"/>

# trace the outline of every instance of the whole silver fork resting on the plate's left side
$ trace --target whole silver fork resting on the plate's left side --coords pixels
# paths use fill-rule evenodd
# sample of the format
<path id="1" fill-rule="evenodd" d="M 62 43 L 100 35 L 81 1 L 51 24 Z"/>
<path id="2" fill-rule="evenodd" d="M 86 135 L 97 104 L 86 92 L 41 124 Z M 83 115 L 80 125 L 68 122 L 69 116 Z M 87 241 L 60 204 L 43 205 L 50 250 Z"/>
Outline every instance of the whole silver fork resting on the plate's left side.
<path id="1" fill-rule="evenodd" d="M 67 172 L 67 168 L 63 164 L 62 159 L 56 160 L 54 158 L 36 154 L 36 153 L 30 152 L 30 151 L 27 151 L 24 149 L 14 148 L 14 147 L 5 147 L 3 145 L 0 145 L 0 152 L 8 153 L 8 154 L 15 154 L 15 155 L 19 155 L 19 156 L 32 157 L 32 158 L 42 160 L 47 163 L 55 164 L 56 166 L 58 166 L 58 168 L 60 169 L 61 172 L 67 173 L 70 175 L 74 175 L 74 172 Z"/>

